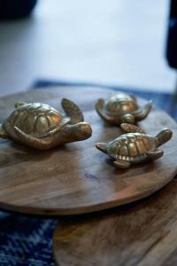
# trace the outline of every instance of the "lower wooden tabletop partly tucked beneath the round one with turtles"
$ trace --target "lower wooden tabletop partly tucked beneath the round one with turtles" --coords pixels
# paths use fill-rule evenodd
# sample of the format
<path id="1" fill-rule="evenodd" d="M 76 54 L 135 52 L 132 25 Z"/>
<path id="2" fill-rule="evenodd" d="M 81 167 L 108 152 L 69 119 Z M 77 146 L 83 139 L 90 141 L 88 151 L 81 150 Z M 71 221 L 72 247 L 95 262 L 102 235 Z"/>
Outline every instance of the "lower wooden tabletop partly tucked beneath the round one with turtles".
<path id="1" fill-rule="evenodd" d="M 58 223 L 53 238 L 57 265 L 177 265 L 176 179 L 148 199 L 116 209 Z"/>

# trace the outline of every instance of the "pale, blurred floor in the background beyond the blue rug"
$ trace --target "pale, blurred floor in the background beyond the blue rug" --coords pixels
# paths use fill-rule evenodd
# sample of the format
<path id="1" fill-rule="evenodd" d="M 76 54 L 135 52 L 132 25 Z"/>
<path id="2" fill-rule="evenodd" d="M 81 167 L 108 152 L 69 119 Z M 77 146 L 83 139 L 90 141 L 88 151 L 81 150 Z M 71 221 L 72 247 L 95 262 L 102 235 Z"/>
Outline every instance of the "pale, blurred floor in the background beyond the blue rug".
<path id="1" fill-rule="evenodd" d="M 167 0 L 41 0 L 0 23 L 0 95 L 39 78 L 173 91 L 165 61 Z"/>

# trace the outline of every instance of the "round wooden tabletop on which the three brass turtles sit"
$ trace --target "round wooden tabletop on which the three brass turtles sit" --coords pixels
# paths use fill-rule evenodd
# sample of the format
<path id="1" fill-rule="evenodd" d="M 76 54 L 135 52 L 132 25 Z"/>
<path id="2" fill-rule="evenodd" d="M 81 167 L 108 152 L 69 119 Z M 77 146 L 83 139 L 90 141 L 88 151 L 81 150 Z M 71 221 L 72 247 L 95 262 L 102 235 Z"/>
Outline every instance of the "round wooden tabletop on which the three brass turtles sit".
<path id="1" fill-rule="evenodd" d="M 110 141 L 121 134 L 119 128 L 105 125 L 94 109 L 97 98 L 114 93 L 93 88 L 52 88 L 0 99 L 2 122 L 18 100 L 43 102 L 61 109 L 61 98 L 71 98 L 81 106 L 85 121 L 93 129 L 93 136 L 86 141 L 45 152 L 0 140 L 1 208 L 42 215 L 88 213 L 142 199 L 175 176 L 177 126 L 157 108 L 140 125 L 153 136 L 164 127 L 173 130 L 172 140 L 163 145 L 165 155 L 161 159 L 122 170 L 96 150 L 96 142 Z"/>

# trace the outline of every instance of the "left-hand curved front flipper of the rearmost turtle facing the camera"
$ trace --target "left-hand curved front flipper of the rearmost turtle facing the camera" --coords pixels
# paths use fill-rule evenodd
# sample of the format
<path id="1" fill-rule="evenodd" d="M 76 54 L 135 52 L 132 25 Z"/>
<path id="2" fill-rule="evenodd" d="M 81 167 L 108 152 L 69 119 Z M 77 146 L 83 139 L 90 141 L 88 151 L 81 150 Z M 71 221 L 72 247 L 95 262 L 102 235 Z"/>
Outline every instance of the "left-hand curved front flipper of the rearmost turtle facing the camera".
<path id="1" fill-rule="evenodd" d="M 111 116 L 111 115 L 108 115 L 108 114 L 104 113 L 104 103 L 105 103 L 105 101 L 104 101 L 103 98 L 99 98 L 97 100 L 97 102 L 96 102 L 96 112 L 100 115 L 100 117 L 104 121 L 106 121 L 106 122 L 108 122 L 108 123 L 110 123 L 112 125 L 118 124 L 118 122 L 116 121 L 116 118 L 114 116 Z"/>

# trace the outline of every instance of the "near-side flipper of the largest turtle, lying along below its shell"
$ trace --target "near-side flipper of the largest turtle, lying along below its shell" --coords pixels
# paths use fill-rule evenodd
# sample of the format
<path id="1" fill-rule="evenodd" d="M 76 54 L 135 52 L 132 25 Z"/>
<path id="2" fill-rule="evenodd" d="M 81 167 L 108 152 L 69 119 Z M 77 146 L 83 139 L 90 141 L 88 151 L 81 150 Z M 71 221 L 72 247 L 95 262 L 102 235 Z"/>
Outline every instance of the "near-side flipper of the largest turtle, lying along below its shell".
<path id="1" fill-rule="evenodd" d="M 17 127 L 14 127 L 14 130 L 16 134 L 19 136 L 20 142 L 25 145 L 28 145 L 38 150 L 48 150 L 53 146 L 49 139 L 44 140 L 42 138 L 37 138 L 27 135 L 25 132 L 21 131 Z"/>

